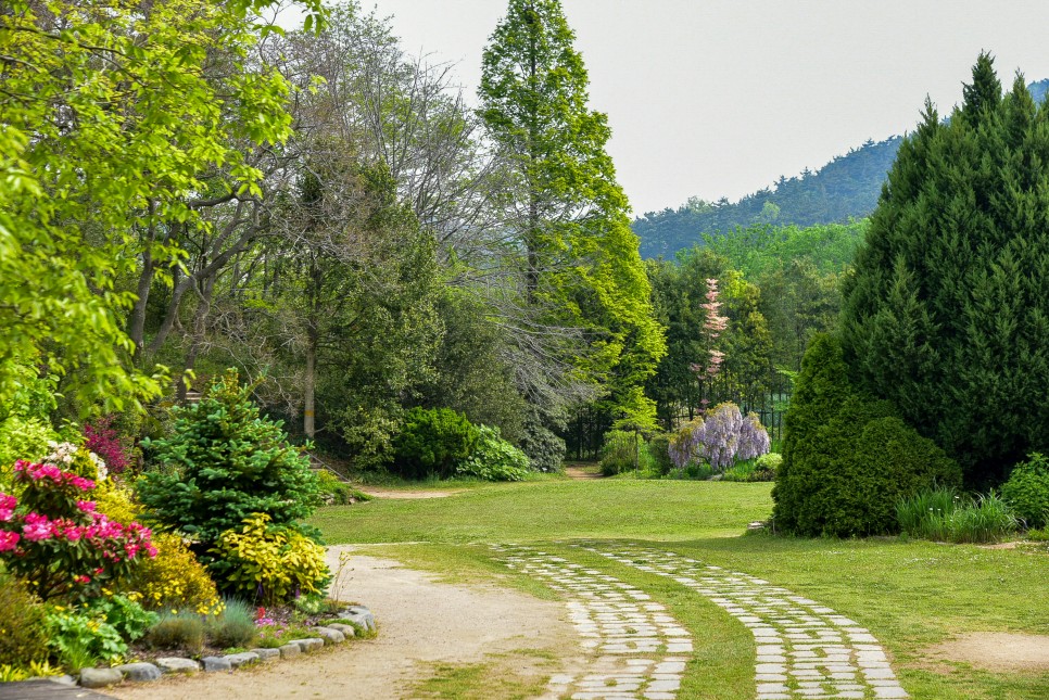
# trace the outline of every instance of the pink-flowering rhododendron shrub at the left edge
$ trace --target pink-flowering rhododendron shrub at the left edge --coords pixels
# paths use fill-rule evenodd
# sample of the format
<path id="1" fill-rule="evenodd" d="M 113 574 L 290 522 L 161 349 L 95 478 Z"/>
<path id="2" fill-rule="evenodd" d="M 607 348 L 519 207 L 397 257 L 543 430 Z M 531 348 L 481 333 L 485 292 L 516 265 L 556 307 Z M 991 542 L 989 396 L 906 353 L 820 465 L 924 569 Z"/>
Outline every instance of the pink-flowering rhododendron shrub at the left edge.
<path id="1" fill-rule="evenodd" d="M 48 600 L 87 600 L 155 556 L 150 531 L 85 500 L 94 482 L 53 463 L 15 463 L 20 498 L 0 493 L 0 559 Z"/>

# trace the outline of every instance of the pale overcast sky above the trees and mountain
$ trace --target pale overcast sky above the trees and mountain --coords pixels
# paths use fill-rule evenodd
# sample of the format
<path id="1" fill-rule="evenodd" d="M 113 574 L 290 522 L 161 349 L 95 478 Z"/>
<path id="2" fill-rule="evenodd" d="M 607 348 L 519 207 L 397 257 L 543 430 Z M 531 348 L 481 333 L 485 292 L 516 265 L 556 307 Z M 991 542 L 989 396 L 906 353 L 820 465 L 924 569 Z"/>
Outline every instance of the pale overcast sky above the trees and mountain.
<path id="1" fill-rule="evenodd" d="M 506 0 L 361 0 L 473 98 Z M 1049 77 L 1049 2 L 563 0 L 634 213 L 771 186 L 946 112 L 977 53 Z"/>

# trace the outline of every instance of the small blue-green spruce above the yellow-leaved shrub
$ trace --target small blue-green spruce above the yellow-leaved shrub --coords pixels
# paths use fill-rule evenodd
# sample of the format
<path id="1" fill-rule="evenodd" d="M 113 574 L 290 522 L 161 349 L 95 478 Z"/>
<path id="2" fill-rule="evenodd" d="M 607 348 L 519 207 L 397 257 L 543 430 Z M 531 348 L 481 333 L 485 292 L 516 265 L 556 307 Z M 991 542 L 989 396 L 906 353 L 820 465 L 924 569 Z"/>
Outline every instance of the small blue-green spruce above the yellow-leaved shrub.
<path id="1" fill-rule="evenodd" d="M 260 416 L 236 370 L 200 403 L 173 412 L 175 434 L 150 445 L 163 468 L 138 483 L 139 498 L 162 527 L 193 536 L 203 555 L 252 513 L 291 525 L 313 512 L 318 492 L 308 460 L 279 422 Z"/>

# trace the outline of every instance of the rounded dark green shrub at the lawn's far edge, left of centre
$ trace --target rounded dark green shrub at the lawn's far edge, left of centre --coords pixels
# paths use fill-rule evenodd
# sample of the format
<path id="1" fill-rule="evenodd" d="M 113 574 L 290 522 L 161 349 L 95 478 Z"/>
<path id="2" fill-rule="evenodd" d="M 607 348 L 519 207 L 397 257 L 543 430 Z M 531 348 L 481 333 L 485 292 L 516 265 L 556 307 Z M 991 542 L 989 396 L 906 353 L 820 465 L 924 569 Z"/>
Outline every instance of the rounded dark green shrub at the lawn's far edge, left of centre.
<path id="1" fill-rule="evenodd" d="M 480 431 L 450 408 L 413 408 L 393 440 L 394 470 L 405 479 L 447 479 L 468 459 Z"/>

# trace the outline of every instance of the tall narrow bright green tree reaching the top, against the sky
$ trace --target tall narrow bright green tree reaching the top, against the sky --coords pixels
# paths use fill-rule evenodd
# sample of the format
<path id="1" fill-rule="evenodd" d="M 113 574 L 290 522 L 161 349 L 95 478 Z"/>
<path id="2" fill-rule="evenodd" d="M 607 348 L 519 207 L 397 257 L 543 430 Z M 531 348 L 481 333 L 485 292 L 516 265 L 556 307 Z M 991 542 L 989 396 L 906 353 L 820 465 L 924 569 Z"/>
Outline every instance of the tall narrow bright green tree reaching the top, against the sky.
<path id="1" fill-rule="evenodd" d="M 580 331 L 578 377 L 604 382 L 614 413 L 646 413 L 640 386 L 665 351 L 629 204 L 605 151 L 607 117 L 587 107 L 586 69 L 558 0 L 510 0 L 483 55 L 488 133 L 507 165 L 501 193 L 522 253 L 533 318 Z"/>

